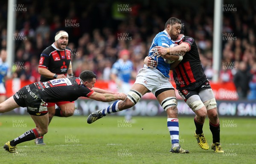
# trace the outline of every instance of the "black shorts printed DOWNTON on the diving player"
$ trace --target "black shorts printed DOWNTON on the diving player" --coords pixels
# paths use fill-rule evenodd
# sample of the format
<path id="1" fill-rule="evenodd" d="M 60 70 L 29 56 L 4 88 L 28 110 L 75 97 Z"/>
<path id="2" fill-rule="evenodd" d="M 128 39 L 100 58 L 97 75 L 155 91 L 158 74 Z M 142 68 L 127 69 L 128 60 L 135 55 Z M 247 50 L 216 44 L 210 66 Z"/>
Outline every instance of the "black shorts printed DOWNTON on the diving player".
<path id="1" fill-rule="evenodd" d="M 34 116 L 44 116 L 48 113 L 47 103 L 41 99 L 34 84 L 26 85 L 18 90 L 13 98 L 20 107 L 27 107 L 27 112 Z"/>

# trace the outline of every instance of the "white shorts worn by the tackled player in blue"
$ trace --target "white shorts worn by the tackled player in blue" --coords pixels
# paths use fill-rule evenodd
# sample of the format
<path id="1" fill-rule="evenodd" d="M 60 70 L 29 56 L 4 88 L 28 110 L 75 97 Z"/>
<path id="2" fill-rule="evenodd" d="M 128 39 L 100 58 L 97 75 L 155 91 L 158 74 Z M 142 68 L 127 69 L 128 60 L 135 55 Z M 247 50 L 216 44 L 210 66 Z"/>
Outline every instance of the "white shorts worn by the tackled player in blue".
<path id="1" fill-rule="evenodd" d="M 141 68 L 138 75 L 136 76 L 136 81 L 134 84 L 144 85 L 148 90 L 150 90 L 154 95 L 157 90 L 163 88 L 173 88 L 169 77 L 163 76 L 155 68 Z"/>

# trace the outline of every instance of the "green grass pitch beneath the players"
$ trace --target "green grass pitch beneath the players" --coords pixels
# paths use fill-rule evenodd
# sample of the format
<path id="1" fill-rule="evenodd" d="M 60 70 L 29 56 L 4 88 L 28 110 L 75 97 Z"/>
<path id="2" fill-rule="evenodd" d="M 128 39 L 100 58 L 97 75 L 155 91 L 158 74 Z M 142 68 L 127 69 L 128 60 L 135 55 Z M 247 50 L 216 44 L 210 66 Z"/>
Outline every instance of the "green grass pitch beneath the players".
<path id="1" fill-rule="evenodd" d="M 122 116 L 106 116 L 93 124 L 87 116 L 54 117 L 44 136 L 47 145 L 34 141 L 17 145 L 19 153 L 0 149 L 0 163 L 16 164 L 255 164 L 256 119 L 220 118 L 221 145 L 225 153 L 202 150 L 193 137 L 193 116 L 179 117 L 180 144 L 190 154 L 170 154 L 166 117 L 134 117 L 134 123 Z M 35 127 L 30 116 L 0 116 L 0 144 Z M 204 134 L 212 136 L 208 119 Z"/>

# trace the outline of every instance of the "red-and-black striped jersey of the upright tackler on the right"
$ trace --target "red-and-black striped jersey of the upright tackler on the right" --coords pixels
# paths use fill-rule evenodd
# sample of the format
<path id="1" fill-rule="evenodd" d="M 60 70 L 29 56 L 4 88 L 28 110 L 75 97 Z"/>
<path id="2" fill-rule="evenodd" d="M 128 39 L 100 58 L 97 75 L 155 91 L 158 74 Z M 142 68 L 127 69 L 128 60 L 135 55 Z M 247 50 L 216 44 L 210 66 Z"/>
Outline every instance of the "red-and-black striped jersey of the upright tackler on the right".
<path id="1" fill-rule="evenodd" d="M 180 43 L 188 44 L 190 51 L 186 52 L 180 64 L 173 70 L 173 78 L 178 90 L 206 78 L 194 38 L 185 36 L 177 44 Z"/>

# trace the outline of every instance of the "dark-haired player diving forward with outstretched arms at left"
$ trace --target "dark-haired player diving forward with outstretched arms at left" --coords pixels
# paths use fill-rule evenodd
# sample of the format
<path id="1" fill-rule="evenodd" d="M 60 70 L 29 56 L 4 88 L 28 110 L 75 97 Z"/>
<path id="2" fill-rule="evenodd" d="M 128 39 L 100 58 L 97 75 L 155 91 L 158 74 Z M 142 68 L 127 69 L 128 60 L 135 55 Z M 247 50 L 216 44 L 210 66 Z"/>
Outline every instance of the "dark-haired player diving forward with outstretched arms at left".
<path id="1" fill-rule="evenodd" d="M 18 90 L 15 95 L 0 104 L 0 113 L 9 112 L 17 107 L 27 107 L 36 128 L 6 142 L 4 149 L 16 152 L 16 145 L 43 136 L 48 131 L 47 102 L 72 102 L 81 96 L 102 102 L 125 100 L 124 93 L 97 93 L 92 90 L 96 75 L 92 71 L 83 71 L 78 78 L 52 79 L 47 82 L 35 82 Z"/>

